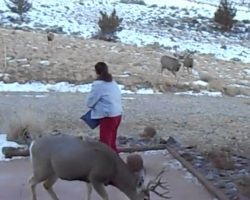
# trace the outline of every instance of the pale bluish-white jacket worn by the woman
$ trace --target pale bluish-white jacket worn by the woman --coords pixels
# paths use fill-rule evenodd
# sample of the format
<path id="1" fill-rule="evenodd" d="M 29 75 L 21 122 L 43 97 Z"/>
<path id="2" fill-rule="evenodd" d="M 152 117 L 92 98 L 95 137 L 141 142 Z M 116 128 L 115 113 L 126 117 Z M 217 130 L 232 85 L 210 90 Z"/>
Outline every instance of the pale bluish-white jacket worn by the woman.
<path id="1" fill-rule="evenodd" d="M 91 118 L 115 117 L 122 114 L 121 90 L 115 81 L 96 80 L 87 98 Z"/>

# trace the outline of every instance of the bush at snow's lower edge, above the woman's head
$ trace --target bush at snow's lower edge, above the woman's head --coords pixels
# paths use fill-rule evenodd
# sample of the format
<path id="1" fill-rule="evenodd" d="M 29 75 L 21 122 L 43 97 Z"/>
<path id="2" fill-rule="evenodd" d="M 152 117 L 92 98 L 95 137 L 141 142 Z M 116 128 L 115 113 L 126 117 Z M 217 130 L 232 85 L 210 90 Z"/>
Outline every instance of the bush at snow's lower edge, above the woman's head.
<path id="1" fill-rule="evenodd" d="M 122 18 L 116 15 L 116 10 L 114 9 L 110 16 L 106 12 L 100 11 L 101 18 L 99 18 L 98 26 L 101 29 L 99 34 L 99 39 L 103 40 L 113 40 L 116 31 L 120 30 L 119 26 L 122 22 Z"/>

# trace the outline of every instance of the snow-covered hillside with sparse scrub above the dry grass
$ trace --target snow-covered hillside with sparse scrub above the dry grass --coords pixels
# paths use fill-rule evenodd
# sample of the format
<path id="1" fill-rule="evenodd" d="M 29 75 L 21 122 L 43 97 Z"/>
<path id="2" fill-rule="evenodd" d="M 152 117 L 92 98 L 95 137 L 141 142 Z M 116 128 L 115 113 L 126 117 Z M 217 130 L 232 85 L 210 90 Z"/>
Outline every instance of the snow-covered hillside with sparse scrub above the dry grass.
<path id="1" fill-rule="evenodd" d="M 18 16 L 0 0 L 0 22 L 3 26 L 43 30 L 53 27 L 59 33 L 90 38 L 98 31 L 99 11 L 110 13 L 115 8 L 123 18 L 123 29 L 118 33 L 122 43 L 154 44 L 171 51 L 189 49 L 225 60 L 250 62 L 249 7 L 238 4 L 237 25 L 231 33 L 222 34 L 213 29 L 211 19 L 218 2 L 145 0 L 146 5 L 138 5 L 119 0 L 36 0 L 25 16 L 25 23 L 17 25 L 13 21 Z"/>

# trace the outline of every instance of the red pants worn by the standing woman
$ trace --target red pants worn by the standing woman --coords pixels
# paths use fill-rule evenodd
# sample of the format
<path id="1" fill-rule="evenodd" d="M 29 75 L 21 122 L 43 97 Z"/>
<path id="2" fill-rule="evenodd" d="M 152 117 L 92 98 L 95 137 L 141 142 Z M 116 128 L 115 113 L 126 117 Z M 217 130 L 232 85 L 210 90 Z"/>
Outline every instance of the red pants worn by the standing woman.
<path id="1" fill-rule="evenodd" d="M 111 147 L 117 153 L 116 136 L 121 118 L 121 115 L 116 117 L 104 117 L 100 121 L 100 141 Z"/>

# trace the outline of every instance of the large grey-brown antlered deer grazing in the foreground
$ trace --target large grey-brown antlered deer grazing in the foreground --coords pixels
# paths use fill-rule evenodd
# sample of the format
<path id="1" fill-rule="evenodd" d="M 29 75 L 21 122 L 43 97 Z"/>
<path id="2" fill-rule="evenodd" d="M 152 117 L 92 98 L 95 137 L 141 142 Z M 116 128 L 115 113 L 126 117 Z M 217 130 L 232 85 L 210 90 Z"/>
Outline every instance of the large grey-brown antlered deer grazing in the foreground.
<path id="1" fill-rule="evenodd" d="M 107 185 L 118 188 L 130 200 L 149 200 L 150 191 L 168 198 L 168 187 L 161 180 L 164 169 L 146 185 L 129 170 L 119 154 L 99 141 L 67 134 L 45 135 L 33 140 L 29 151 L 33 169 L 29 179 L 32 200 L 37 200 L 36 186 L 39 183 L 43 183 L 53 200 L 59 200 L 53 190 L 59 178 L 85 182 L 88 200 L 92 188 L 103 200 L 109 200 Z M 164 192 L 159 193 L 156 188 L 162 188 Z"/>

